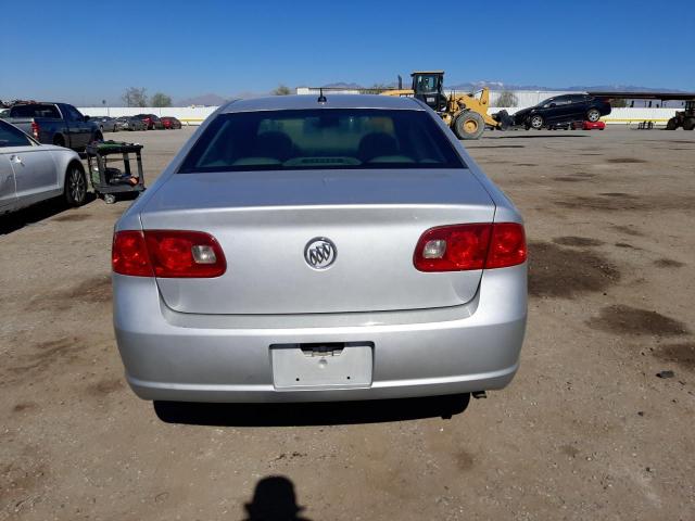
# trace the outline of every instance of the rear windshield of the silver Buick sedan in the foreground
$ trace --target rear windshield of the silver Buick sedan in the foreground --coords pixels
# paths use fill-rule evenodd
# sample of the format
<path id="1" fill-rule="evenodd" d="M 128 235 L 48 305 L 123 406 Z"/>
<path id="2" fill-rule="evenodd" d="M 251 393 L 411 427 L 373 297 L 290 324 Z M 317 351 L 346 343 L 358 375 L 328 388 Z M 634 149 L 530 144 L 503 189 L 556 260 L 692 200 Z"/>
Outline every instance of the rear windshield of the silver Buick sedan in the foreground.
<path id="1" fill-rule="evenodd" d="M 222 114 L 179 171 L 463 166 L 426 112 L 318 109 Z"/>

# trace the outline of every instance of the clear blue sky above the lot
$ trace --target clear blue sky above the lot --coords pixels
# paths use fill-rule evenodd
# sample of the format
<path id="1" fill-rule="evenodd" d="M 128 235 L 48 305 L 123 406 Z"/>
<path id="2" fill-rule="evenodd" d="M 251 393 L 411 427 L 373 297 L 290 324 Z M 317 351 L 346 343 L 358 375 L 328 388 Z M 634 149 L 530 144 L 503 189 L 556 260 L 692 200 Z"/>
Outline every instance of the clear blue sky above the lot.
<path id="1" fill-rule="evenodd" d="M 0 30 L 0 99 L 117 105 L 129 86 L 177 100 L 267 92 L 280 82 L 368 86 L 416 68 L 443 68 L 448 85 L 695 91 L 692 0 L 3 0 L 2 8 L 14 23 Z"/>

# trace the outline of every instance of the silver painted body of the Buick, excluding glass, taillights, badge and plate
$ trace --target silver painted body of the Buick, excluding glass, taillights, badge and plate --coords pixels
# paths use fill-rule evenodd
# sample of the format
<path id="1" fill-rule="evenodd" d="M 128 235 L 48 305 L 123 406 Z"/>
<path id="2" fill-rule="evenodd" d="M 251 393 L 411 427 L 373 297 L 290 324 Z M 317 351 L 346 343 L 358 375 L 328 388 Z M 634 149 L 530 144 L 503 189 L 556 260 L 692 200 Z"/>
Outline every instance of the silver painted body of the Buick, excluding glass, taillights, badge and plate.
<path id="1" fill-rule="evenodd" d="M 177 174 L 219 113 L 316 105 L 314 97 L 275 97 L 220 107 L 116 224 L 116 231 L 210 232 L 228 264 L 217 279 L 113 276 L 118 348 L 140 397 L 369 399 L 501 389 L 514 377 L 526 328 L 526 263 L 443 274 L 413 266 L 418 238 L 433 226 L 521 223 L 422 103 L 328 96 L 321 106 L 429 111 L 466 168 Z M 301 251 L 317 236 L 330 237 L 339 252 L 323 271 L 308 268 Z M 271 346 L 324 343 L 371 346 L 369 382 L 278 385 Z"/>

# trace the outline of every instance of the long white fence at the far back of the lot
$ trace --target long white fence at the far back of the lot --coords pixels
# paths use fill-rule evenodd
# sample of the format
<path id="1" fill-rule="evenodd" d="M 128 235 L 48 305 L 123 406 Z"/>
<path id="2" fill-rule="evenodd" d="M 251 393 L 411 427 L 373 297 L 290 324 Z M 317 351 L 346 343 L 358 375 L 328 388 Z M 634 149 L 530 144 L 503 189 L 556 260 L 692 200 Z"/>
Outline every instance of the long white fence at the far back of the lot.
<path id="1" fill-rule="evenodd" d="M 132 116 L 136 114 L 156 114 L 157 116 L 174 116 L 181 120 L 184 125 L 200 125 L 217 110 L 216 106 L 168 106 L 168 107 L 132 107 L 132 106 L 85 106 L 79 112 L 90 116 Z M 490 107 L 488 112 L 494 114 L 502 111 L 501 107 Z M 504 109 L 509 114 L 520 109 Z M 654 122 L 656 125 L 666 125 L 670 117 L 673 117 L 678 109 L 614 109 L 612 112 L 603 118 L 607 124 L 636 124 L 641 122 Z"/>

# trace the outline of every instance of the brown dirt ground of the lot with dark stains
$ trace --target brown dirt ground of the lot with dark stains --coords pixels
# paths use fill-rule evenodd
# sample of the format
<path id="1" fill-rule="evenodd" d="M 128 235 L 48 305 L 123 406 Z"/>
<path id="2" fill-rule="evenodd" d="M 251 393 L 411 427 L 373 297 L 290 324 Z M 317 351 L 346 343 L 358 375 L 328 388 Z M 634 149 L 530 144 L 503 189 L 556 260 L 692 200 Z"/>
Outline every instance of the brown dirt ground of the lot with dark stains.
<path id="1" fill-rule="evenodd" d="M 190 134 L 115 137 L 151 181 Z M 111 326 L 129 203 L 0 218 L 0 519 L 695 519 L 695 132 L 468 149 L 525 215 L 530 315 L 513 384 L 452 419 L 404 401 L 163 421 Z"/>

